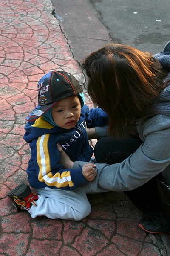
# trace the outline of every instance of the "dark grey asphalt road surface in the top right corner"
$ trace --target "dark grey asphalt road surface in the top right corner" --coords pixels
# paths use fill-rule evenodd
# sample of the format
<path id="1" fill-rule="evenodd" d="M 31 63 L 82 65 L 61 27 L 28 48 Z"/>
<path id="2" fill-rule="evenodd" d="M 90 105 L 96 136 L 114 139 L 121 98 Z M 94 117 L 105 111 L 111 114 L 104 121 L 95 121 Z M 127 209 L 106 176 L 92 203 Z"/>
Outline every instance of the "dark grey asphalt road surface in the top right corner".
<path id="1" fill-rule="evenodd" d="M 114 42 L 157 53 L 170 40 L 170 0 L 89 0 Z"/>

